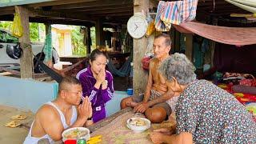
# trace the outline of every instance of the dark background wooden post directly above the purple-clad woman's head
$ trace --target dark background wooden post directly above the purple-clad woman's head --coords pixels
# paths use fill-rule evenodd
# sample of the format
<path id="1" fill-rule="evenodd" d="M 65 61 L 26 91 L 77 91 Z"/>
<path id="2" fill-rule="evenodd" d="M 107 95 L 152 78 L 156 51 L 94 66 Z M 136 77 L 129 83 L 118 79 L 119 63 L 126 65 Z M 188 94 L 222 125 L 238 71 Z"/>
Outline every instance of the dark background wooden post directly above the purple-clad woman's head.
<path id="1" fill-rule="evenodd" d="M 100 20 L 100 18 L 96 21 L 95 30 L 96 30 L 96 46 L 104 46 L 103 26 L 102 26 L 102 20 Z"/>

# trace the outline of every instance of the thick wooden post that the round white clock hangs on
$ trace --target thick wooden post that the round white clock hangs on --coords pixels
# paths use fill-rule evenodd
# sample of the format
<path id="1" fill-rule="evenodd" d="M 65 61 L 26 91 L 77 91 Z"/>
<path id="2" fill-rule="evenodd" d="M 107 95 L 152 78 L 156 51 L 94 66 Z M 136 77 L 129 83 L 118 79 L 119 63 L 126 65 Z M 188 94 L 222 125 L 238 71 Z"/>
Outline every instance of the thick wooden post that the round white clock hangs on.
<path id="1" fill-rule="evenodd" d="M 134 13 L 145 12 L 149 9 L 149 0 L 134 0 Z M 148 74 L 142 69 L 142 58 L 146 52 L 147 38 L 144 36 L 134 39 L 134 94 L 140 94 L 145 91 Z"/>

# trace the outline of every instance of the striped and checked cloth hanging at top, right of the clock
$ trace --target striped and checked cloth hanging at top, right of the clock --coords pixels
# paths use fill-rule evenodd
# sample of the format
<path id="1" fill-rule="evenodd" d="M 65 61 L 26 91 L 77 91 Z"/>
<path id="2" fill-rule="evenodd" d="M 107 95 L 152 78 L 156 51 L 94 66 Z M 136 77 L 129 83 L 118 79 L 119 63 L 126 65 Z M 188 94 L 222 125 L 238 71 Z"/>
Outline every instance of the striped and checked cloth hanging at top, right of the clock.
<path id="1" fill-rule="evenodd" d="M 182 22 L 194 20 L 197 5 L 198 0 L 160 1 L 154 22 L 156 30 L 169 31 L 171 24 L 179 25 Z"/>

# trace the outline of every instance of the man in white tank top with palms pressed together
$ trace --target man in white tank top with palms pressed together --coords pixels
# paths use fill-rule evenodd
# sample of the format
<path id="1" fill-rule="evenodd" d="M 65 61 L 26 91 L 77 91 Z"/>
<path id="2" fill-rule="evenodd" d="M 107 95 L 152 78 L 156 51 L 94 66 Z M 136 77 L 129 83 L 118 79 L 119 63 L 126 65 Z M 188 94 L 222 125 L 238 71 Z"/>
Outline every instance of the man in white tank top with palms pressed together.
<path id="1" fill-rule="evenodd" d="M 24 144 L 38 143 L 40 139 L 48 139 L 50 143 L 62 139 L 62 131 L 71 127 L 84 126 L 91 117 L 92 109 L 86 97 L 79 105 L 82 86 L 78 79 L 63 78 L 58 88 L 58 98 L 47 102 L 35 114 Z"/>

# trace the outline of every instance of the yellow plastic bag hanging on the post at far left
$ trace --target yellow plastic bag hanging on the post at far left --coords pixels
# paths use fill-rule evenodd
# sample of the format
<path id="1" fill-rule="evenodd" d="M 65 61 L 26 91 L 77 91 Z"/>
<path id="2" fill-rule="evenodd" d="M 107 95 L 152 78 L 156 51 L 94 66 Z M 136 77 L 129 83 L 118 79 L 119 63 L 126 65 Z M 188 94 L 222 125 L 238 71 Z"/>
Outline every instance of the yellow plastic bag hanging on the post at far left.
<path id="1" fill-rule="evenodd" d="M 14 14 L 12 34 L 18 38 L 22 37 L 23 34 L 21 17 L 17 13 Z"/>

